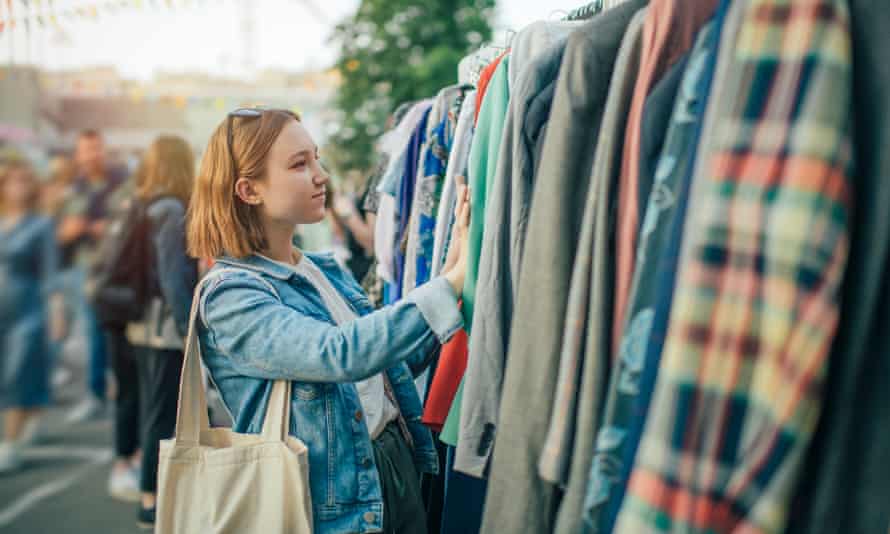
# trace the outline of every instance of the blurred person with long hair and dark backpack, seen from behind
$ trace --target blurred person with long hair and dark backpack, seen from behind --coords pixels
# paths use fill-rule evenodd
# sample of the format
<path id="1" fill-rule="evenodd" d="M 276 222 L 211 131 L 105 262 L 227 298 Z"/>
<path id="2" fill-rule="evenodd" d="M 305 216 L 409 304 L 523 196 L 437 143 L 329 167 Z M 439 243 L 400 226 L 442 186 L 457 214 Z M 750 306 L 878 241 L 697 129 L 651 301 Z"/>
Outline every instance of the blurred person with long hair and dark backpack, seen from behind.
<path id="1" fill-rule="evenodd" d="M 198 279 L 197 261 L 186 254 L 185 243 L 194 169 L 194 155 L 182 138 L 161 136 L 152 143 L 138 172 L 117 273 L 109 277 L 121 282 L 100 284 L 95 299 L 97 308 L 120 307 L 117 313 L 129 321 L 127 339 L 138 351 L 143 528 L 154 525 L 158 447 L 176 424 L 183 339 Z M 110 296 L 115 292 L 118 300 Z"/>

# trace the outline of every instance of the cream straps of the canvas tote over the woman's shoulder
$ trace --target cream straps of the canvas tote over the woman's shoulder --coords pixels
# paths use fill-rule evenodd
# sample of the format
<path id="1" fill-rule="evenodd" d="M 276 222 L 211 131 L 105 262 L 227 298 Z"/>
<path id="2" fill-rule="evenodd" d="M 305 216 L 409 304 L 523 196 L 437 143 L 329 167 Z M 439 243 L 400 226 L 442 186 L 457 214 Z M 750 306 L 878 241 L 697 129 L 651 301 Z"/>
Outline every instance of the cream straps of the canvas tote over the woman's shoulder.
<path id="1" fill-rule="evenodd" d="M 200 442 L 201 431 L 210 428 L 210 419 L 207 415 L 207 393 L 204 391 L 204 381 L 201 375 L 201 343 L 198 341 L 198 329 L 196 320 L 201 304 L 201 291 L 207 283 L 217 276 L 227 272 L 247 273 L 256 277 L 265 284 L 279 300 L 281 297 L 275 288 L 263 280 L 257 274 L 244 269 L 219 269 L 205 276 L 195 287 L 192 296 L 192 308 L 189 312 L 189 331 L 185 341 L 185 358 L 182 362 L 182 376 L 179 382 L 179 405 L 176 411 L 176 440 L 183 443 Z M 276 422 L 270 428 L 270 432 L 278 432 L 278 429 L 287 430 L 287 422 L 290 419 L 290 403 L 288 402 L 290 382 L 278 380 L 272 388 L 269 399 L 269 408 L 266 410 L 266 421 L 263 423 L 263 435 L 266 435 L 266 427 L 269 426 L 270 417 L 276 418 Z M 282 407 L 282 405 L 284 405 Z M 274 408 L 277 406 L 277 408 Z M 283 421 L 281 418 L 287 417 Z M 278 440 L 284 439 L 286 434 L 280 434 Z"/>

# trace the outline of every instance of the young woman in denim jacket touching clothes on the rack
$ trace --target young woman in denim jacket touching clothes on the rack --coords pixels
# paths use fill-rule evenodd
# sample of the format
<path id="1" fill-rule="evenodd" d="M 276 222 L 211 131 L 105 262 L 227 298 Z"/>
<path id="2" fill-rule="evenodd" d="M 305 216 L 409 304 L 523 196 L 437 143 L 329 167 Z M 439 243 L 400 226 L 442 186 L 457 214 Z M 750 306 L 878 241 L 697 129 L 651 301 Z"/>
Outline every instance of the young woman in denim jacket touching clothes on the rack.
<path id="1" fill-rule="evenodd" d="M 327 183 L 289 111 L 238 110 L 213 133 L 188 223 L 190 252 L 217 259 L 202 355 L 239 432 L 260 431 L 274 380 L 292 382 L 317 534 L 424 533 L 419 473 L 438 465 L 408 363 L 422 370 L 462 326 L 468 196 L 445 276 L 375 312 L 332 256 L 291 245 L 295 225 L 324 218 Z"/>

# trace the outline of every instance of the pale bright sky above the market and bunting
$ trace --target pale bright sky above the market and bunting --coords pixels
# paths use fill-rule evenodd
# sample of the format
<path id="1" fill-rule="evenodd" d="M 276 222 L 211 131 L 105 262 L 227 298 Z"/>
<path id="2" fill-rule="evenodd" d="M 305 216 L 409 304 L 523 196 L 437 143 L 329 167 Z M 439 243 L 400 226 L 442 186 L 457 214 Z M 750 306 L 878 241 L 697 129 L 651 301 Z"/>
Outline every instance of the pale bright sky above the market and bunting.
<path id="1" fill-rule="evenodd" d="M 100 5 L 97 19 L 60 20 L 61 30 L 32 24 L 30 38 L 21 24 L 0 33 L 0 63 L 31 63 L 50 69 L 114 66 L 124 76 L 149 79 L 163 71 L 201 71 L 238 76 L 244 72 L 244 26 L 254 21 L 257 68 L 315 70 L 331 65 L 336 50 L 328 43 L 336 21 L 354 12 L 358 0 L 131 0 L 111 13 L 111 0 L 13 1 L 13 16 L 23 5 L 55 11 Z M 496 30 L 519 30 L 536 20 L 556 20 L 583 4 L 579 0 L 500 0 Z M 8 20 L 6 3 L 0 20 Z M 39 6 L 39 7 L 38 7 Z M 172 7 L 171 7 L 172 6 Z"/>

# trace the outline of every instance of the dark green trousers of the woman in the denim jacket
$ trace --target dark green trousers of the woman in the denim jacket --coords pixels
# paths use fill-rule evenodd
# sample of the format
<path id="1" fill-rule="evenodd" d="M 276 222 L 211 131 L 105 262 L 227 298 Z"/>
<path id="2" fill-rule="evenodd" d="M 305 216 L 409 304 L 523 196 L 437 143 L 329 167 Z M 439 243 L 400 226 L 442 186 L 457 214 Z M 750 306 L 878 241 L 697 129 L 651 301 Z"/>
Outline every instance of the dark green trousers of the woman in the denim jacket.
<path id="1" fill-rule="evenodd" d="M 383 491 L 383 533 L 426 534 L 420 476 L 399 426 L 390 423 L 372 443 Z"/>

